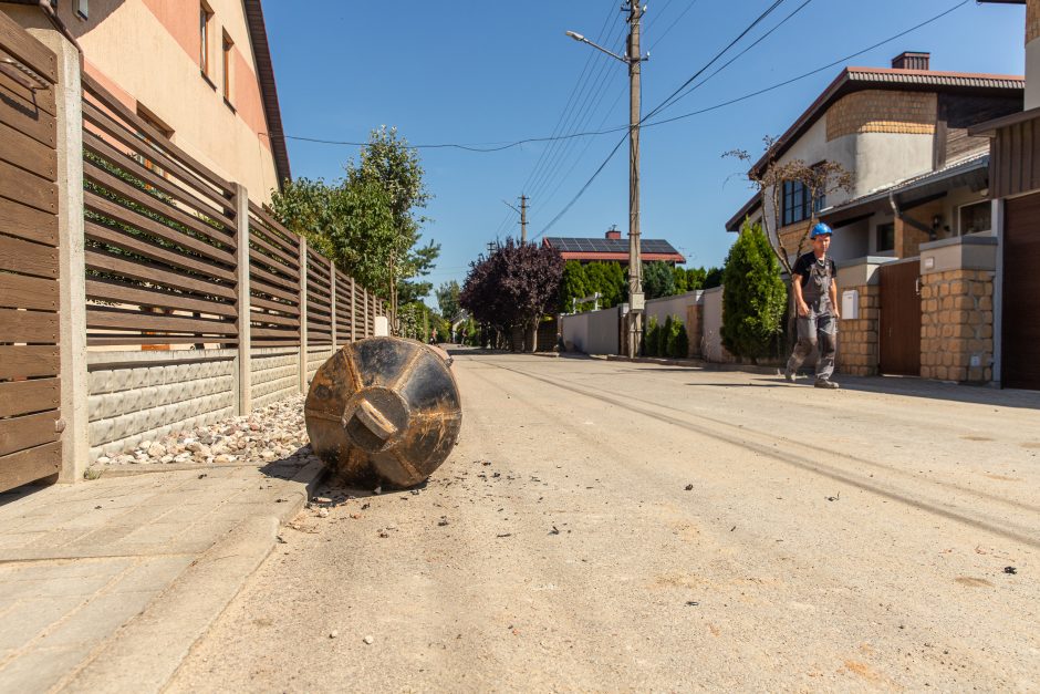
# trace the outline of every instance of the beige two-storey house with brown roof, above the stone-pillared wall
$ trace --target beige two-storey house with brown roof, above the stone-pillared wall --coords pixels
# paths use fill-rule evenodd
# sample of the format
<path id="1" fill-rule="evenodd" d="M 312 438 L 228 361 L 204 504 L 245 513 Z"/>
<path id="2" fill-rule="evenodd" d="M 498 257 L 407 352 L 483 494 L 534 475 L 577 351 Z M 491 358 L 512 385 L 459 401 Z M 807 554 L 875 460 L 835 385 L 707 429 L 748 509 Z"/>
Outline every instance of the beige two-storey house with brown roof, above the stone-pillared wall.
<path id="1" fill-rule="evenodd" d="M 984 211 L 961 213 L 966 205 L 985 201 L 979 195 L 985 183 L 946 182 L 943 190 L 929 189 L 926 201 L 907 198 L 902 206 L 887 191 L 933 173 L 961 174 L 966 162 L 985 178 L 988 142 L 968 135 L 967 128 L 1020 110 L 1023 89 L 1020 76 L 933 71 L 928 53 L 902 53 L 886 69 L 844 69 L 752 167 L 760 175 L 771 162 L 783 165 L 798 159 L 812 166 L 828 160 L 853 175 L 850 190 L 817 200 L 808 199 L 801 184 L 784 184 L 778 191 L 784 247 L 799 247 L 814 213 L 835 228 L 831 253 L 839 261 L 907 258 L 917 255 L 921 242 L 989 231 L 973 217 L 977 211 L 985 218 Z M 727 229 L 738 230 L 746 216 L 761 219 L 763 209 L 773 209 L 773 194 L 766 190 L 765 208 L 753 196 Z M 876 203 L 875 198 L 883 204 L 870 209 L 856 205 L 863 199 Z M 926 204 L 930 206 L 911 213 Z"/>

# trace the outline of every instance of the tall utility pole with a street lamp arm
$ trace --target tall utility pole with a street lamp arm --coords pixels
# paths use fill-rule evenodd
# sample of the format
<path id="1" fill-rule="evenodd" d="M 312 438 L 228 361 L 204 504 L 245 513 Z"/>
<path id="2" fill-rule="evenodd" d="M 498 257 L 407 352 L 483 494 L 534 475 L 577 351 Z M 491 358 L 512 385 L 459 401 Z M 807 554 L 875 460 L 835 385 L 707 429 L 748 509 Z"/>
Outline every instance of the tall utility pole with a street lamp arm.
<path id="1" fill-rule="evenodd" d="M 618 55 L 593 43 L 576 31 L 566 35 L 587 43 L 597 51 L 628 65 L 628 356 L 636 356 L 643 336 L 643 265 L 639 258 L 639 66 L 646 58 L 639 53 L 639 23 L 645 7 L 637 0 L 628 4 L 628 50 Z"/>

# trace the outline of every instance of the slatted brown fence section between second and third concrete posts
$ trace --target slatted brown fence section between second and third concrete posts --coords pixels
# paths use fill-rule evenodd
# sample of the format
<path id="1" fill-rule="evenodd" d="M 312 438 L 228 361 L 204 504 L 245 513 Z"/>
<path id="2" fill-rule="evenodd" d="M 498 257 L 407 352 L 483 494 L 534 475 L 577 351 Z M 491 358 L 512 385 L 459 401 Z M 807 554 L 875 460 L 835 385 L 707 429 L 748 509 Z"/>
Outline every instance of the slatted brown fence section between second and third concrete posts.
<path id="1" fill-rule="evenodd" d="M 300 344 L 300 238 L 249 204 L 250 335 L 257 346 Z"/>

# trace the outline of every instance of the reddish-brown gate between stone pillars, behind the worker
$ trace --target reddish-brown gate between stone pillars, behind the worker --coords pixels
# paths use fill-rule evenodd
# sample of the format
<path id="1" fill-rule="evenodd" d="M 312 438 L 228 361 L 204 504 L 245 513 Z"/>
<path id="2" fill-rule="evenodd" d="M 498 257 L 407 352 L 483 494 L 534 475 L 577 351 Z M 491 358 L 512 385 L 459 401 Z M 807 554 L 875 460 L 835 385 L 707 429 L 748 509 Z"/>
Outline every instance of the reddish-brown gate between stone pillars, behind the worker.
<path id="1" fill-rule="evenodd" d="M 878 269 L 881 373 L 921 375 L 921 297 L 918 262 L 893 262 Z"/>

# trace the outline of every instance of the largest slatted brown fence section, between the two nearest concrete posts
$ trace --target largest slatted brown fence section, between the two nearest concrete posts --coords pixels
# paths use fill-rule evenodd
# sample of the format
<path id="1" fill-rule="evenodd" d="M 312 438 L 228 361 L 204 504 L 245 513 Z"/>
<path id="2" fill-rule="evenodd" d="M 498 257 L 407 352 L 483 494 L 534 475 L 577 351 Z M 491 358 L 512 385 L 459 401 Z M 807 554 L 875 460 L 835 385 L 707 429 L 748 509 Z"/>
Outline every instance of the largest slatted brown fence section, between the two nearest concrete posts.
<path id="1" fill-rule="evenodd" d="M 87 344 L 237 344 L 231 184 L 89 75 L 83 149 Z"/>

